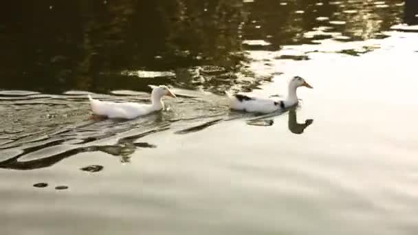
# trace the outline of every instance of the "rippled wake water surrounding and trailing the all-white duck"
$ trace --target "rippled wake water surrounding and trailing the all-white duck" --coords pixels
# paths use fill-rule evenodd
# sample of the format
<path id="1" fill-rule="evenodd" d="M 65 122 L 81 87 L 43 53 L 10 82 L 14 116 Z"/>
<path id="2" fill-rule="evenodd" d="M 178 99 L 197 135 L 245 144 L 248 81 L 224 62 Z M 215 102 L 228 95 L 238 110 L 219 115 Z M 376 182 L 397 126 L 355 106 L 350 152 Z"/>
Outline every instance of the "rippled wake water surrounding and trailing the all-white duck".
<path id="1" fill-rule="evenodd" d="M 206 68 L 208 73 L 212 73 L 213 69 L 210 69 Z M 93 122 L 88 120 L 89 104 L 83 91 L 67 91 L 63 95 L 2 91 L 0 107 L 5 111 L 0 114 L 4 120 L 0 126 L 3 130 L 0 168 L 45 168 L 86 152 L 102 152 L 119 157 L 121 162 L 129 162 L 137 149 L 157 148 L 152 143 L 138 142 L 146 135 L 173 128 L 173 131 L 180 129 L 175 133 L 186 134 L 221 122 L 226 109 L 213 104 L 214 96 L 196 91 L 183 92 L 184 96 L 176 101 L 186 104 L 181 107 L 171 108 L 168 103 L 167 111 L 135 120 Z M 138 100 L 137 96 L 131 96 L 133 94 L 118 91 L 116 96 L 100 97 L 103 100 Z M 216 119 L 210 120 L 212 118 Z M 193 126 L 202 120 L 203 124 Z"/>

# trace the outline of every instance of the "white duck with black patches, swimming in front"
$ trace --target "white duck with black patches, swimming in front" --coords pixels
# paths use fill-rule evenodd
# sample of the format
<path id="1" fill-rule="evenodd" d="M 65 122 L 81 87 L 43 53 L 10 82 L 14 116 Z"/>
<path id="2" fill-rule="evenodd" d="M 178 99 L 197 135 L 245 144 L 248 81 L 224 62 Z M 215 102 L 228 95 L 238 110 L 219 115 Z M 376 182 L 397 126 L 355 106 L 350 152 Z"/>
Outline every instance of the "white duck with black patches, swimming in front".
<path id="1" fill-rule="evenodd" d="M 303 78 L 296 76 L 289 82 L 289 92 L 287 93 L 287 98 L 285 98 L 285 100 L 255 98 L 242 94 L 231 96 L 228 93 L 227 96 L 231 109 L 254 113 L 272 113 L 274 111 L 294 107 L 298 104 L 298 96 L 296 95 L 296 89 L 298 89 L 298 87 L 313 88 Z"/>

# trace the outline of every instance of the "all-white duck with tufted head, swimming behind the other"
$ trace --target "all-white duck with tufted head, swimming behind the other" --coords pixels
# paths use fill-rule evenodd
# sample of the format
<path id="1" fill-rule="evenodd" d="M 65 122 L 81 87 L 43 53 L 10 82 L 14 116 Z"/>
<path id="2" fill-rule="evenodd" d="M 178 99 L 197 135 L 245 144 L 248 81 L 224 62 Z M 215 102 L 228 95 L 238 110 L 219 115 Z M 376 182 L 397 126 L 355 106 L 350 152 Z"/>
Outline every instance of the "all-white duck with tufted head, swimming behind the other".
<path id="1" fill-rule="evenodd" d="M 107 102 L 94 100 L 90 95 L 88 95 L 91 110 L 94 115 L 98 117 L 133 119 L 135 117 L 147 115 L 148 113 L 164 109 L 164 103 L 162 102 L 163 96 L 171 96 L 175 98 L 173 92 L 171 92 L 170 89 L 164 85 L 149 85 L 149 87 L 153 89 L 151 92 L 151 104 L 138 104 L 135 102 Z"/>

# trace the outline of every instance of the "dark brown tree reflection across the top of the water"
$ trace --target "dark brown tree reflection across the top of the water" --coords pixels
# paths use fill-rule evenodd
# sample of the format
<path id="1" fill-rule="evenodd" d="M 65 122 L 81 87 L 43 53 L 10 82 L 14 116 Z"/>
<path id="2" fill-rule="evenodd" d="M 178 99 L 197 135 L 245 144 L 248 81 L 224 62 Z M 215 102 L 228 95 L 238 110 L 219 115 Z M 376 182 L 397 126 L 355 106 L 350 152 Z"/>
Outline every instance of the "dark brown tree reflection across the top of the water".
<path id="1" fill-rule="evenodd" d="M 403 12 L 397 5 L 402 0 L 386 1 L 387 8 L 377 8 L 375 1 L 339 2 L 5 1 L 0 10 L 0 87 L 53 93 L 144 90 L 151 80 L 122 76 L 120 71 L 217 65 L 234 73 L 245 59 L 242 40 L 262 39 L 272 43 L 263 49 L 279 49 L 311 43 L 318 38 L 303 34 L 320 26 L 355 40 L 373 38 L 399 23 Z M 318 16 L 347 23 L 331 25 L 316 21 Z M 227 75 L 211 86 L 229 86 L 235 78 Z"/>

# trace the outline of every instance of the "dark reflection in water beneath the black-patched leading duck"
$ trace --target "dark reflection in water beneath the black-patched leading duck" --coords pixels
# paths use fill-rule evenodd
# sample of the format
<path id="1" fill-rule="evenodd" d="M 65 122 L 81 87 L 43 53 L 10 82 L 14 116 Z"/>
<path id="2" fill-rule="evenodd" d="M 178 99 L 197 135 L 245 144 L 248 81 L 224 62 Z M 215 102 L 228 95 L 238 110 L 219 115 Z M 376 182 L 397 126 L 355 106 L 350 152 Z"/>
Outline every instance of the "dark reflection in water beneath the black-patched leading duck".
<path id="1" fill-rule="evenodd" d="M 280 113 L 280 114 L 283 114 L 283 113 Z M 287 127 L 289 128 L 289 131 L 298 135 L 302 134 L 303 131 L 305 131 L 305 128 L 307 128 L 314 122 L 314 120 L 312 119 L 307 119 L 305 120 L 304 123 L 298 123 L 298 118 L 296 115 L 296 107 L 289 109 L 288 117 L 289 117 L 289 120 L 287 122 Z M 252 126 L 272 126 L 274 124 L 274 120 L 265 119 L 265 115 L 263 115 L 263 117 L 261 118 L 259 117 L 254 120 L 249 120 L 247 124 L 252 125 Z"/>

